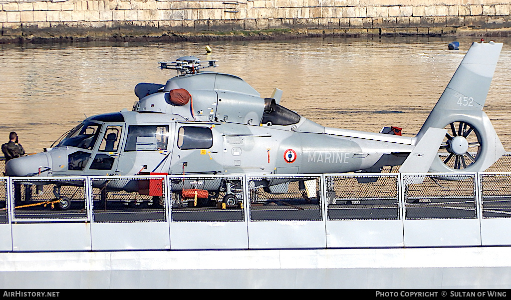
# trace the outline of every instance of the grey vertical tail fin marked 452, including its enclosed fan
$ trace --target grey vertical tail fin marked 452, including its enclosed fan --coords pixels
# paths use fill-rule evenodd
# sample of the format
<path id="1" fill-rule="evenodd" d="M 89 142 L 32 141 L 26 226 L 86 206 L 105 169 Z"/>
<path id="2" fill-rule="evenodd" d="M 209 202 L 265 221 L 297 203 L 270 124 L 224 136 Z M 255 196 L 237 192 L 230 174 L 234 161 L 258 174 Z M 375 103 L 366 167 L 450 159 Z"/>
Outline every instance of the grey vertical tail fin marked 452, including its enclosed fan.
<path id="1" fill-rule="evenodd" d="M 502 43 L 474 42 L 417 133 L 420 140 L 430 127 L 448 130 L 439 150 L 445 155 L 433 161 L 430 172 L 484 171 L 504 153 L 482 111 L 501 49 Z"/>

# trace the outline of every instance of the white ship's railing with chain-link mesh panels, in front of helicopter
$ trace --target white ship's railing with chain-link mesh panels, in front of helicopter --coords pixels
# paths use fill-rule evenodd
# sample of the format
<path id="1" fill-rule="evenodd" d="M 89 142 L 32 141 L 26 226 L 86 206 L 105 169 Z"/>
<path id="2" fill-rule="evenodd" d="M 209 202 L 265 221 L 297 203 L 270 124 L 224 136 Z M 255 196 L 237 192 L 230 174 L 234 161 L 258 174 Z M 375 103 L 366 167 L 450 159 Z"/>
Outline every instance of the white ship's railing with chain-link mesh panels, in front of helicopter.
<path id="1" fill-rule="evenodd" d="M 0 251 L 511 245 L 511 173 L 0 177 Z"/>

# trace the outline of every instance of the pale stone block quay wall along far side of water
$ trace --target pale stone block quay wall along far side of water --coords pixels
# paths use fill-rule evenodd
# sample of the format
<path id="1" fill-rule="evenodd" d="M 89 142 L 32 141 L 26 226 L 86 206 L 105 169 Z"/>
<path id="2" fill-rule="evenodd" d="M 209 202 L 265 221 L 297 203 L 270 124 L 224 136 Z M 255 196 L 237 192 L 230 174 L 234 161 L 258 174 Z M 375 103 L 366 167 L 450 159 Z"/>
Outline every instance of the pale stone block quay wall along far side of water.
<path id="1" fill-rule="evenodd" d="M 510 0 L 0 0 L 0 40 L 511 34 Z"/>

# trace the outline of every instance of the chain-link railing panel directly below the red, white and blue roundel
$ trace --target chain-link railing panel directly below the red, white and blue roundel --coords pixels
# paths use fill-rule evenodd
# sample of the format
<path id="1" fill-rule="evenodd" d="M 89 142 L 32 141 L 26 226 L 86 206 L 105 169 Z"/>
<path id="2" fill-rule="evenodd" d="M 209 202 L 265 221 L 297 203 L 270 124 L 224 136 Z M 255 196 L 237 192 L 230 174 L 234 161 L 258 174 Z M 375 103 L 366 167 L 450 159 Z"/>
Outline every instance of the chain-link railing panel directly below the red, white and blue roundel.
<path id="1" fill-rule="evenodd" d="M 251 221 L 322 220 L 321 178 L 248 178 Z"/>

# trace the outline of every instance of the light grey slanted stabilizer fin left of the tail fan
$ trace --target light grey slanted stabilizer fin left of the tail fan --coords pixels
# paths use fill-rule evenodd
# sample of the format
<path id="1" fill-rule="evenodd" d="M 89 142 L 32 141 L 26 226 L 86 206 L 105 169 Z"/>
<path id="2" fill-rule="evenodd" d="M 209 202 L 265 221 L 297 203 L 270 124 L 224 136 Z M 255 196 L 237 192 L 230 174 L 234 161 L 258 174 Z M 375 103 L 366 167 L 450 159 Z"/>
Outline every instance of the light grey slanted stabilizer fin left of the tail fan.
<path id="1" fill-rule="evenodd" d="M 400 173 L 428 172 L 446 135 L 446 129 L 428 128 L 399 169 Z"/>

